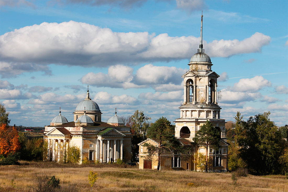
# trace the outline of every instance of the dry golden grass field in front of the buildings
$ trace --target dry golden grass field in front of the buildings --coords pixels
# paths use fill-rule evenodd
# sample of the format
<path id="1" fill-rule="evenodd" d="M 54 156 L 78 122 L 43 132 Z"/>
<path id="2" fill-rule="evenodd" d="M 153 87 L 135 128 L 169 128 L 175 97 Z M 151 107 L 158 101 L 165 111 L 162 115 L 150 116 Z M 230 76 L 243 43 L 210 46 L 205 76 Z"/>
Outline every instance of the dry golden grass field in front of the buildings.
<path id="1" fill-rule="evenodd" d="M 116 164 L 21 163 L 24 165 L 0 166 L 0 191 L 32 191 L 29 186 L 35 185 L 33 180 L 41 175 L 60 178 L 63 188 L 59 191 L 91 191 L 90 170 L 98 173 L 93 191 L 288 191 L 288 178 L 281 175 L 248 175 L 239 177 L 234 185 L 231 173 L 159 172 Z M 192 187 L 187 185 L 191 182 Z"/>

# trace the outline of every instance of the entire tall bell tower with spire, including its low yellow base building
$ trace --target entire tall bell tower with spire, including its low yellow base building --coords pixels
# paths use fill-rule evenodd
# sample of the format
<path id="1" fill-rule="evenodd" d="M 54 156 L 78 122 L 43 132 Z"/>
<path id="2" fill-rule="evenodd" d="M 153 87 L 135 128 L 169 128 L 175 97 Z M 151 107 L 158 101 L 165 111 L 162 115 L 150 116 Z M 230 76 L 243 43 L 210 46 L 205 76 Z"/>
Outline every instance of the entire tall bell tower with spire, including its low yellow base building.
<path id="1" fill-rule="evenodd" d="M 206 156 L 206 147 L 192 146 L 193 138 L 201 126 L 208 120 L 221 133 L 221 148 L 215 151 L 208 148 L 210 171 L 227 171 L 228 161 L 228 143 L 226 142 L 225 120 L 220 118 L 221 108 L 217 103 L 217 78 L 219 77 L 212 71 L 212 62 L 210 57 L 204 53 L 202 44 L 202 18 L 201 15 L 201 35 L 198 52 L 194 54 L 189 62 L 189 71 L 182 75 L 184 98 L 183 104 L 179 107 L 180 117 L 175 119 L 175 137 L 179 145 L 185 145 L 191 150 L 183 155 L 169 152 L 161 155 L 160 169 L 173 170 L 199 170 L 195 165 L 198 154 Z M 153 159 L 145 159 L 147 148 L 144 143 L 150 143 L 155 146 L 159 141 L 147 139 L 139 143 L 139 168 L 157 169 L 158 156 Z"/>

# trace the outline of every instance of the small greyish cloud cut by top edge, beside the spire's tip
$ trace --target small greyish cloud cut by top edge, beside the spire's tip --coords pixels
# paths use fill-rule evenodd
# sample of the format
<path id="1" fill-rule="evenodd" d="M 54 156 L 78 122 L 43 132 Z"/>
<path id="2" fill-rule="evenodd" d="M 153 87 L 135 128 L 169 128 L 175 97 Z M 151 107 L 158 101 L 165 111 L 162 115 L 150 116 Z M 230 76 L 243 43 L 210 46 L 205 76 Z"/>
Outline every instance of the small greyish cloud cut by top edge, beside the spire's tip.
<path id="1" fill-rule="evenodd" d="M 177 8 L 183 9 L 191 14 L 193 11 L 203 10 L 206 4 L 203 0 L 176 0 Z"/>

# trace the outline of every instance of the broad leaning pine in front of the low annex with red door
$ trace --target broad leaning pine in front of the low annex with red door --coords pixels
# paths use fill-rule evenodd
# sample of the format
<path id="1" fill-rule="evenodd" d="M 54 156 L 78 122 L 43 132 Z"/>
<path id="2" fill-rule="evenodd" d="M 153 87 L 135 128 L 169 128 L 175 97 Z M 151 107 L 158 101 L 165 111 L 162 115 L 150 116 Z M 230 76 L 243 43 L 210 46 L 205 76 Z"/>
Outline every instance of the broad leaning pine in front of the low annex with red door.
<path id="1" fill-rule="evenodd" d="M 165 117 L 161 117 L 155 121 L 155 123 L 152 123 L 147 131 L 148 138 L 157 139 L 159 141 L 159 146 L 148 143 L 143 145 L 149 150 L 148 156 L 158 155 L 157 170 L 160 169 L 161 153 L 163 153 L 163 149 L 171 152 L 178 149 L 179 143 L 177 143 L 177 139 L 174 135 L 175 125 L 171 125 L 171 122 Z"/>

